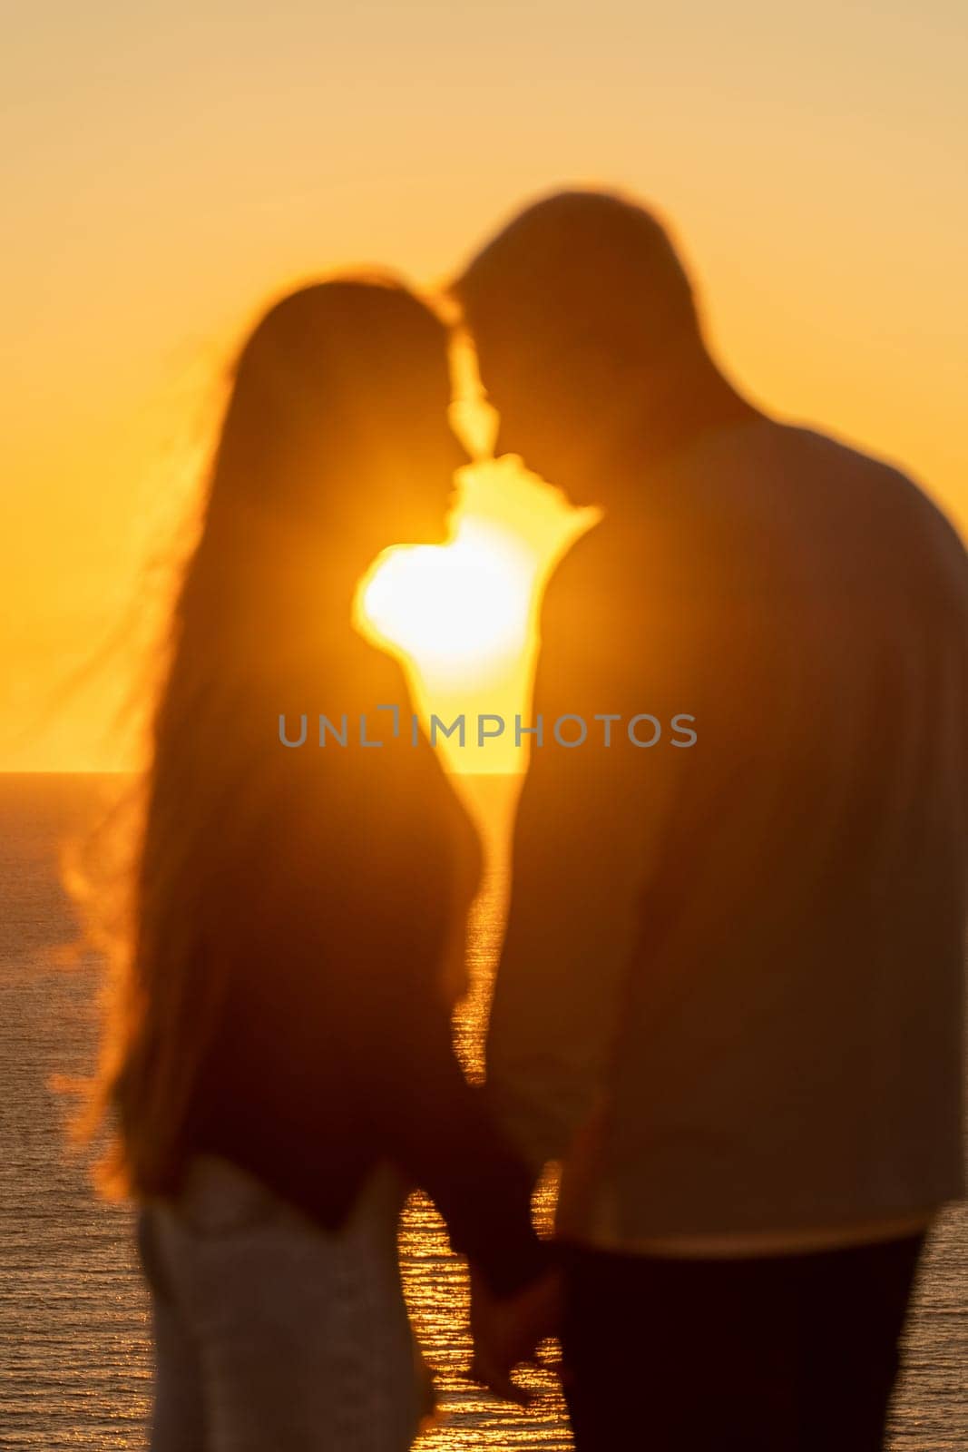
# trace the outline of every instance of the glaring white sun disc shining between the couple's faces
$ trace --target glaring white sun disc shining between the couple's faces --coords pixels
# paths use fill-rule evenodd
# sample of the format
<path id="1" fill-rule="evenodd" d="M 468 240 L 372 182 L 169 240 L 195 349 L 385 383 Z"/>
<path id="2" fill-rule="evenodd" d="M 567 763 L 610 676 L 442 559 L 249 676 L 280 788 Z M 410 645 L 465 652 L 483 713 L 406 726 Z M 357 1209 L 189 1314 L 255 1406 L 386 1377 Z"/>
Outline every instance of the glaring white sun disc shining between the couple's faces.
<path id="1" fill-rule="evenodd" d="M 361 587 L 361 621 L 425 674 L 473 680 L 524 650 L 536 568 L 524 540 L 464 515 L 447 544 L 380 556 Z"/>

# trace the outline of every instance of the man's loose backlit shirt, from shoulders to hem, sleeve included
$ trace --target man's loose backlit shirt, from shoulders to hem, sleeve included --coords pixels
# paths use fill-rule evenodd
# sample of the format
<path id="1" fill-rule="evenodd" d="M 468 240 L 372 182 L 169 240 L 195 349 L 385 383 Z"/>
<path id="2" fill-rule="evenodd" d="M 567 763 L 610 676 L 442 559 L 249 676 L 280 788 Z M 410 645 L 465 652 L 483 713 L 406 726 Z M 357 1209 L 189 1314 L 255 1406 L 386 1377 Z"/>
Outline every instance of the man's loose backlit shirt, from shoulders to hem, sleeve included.
<path id="1" fill-rule="evenodd" d="M 617 1244 L 929 1210 L 961 1188 L 964 550 L 894 470 L 762 420 L 641 499 L 549 590 L 536 713 L 623 725 L 534 752 L 496 1093 L 537 1124 L 553 1066 L 537 1157 L 602 1095 L 589 1233 Z"/>

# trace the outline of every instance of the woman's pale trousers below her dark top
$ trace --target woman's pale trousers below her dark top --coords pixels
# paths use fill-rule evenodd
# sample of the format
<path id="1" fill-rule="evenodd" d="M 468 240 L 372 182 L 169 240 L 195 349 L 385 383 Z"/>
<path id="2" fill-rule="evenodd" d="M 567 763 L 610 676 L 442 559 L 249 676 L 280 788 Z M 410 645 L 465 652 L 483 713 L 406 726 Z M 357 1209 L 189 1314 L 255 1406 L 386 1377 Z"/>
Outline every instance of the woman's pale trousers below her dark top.
<path id="1" fill-rule="evenodd" d="M 226 1160 L 139 1221 L 152 1452 L 405 1452 L 428 1410 L 396 1259 L 403 1188 L 367 1180 L 328 1234 Z"/>

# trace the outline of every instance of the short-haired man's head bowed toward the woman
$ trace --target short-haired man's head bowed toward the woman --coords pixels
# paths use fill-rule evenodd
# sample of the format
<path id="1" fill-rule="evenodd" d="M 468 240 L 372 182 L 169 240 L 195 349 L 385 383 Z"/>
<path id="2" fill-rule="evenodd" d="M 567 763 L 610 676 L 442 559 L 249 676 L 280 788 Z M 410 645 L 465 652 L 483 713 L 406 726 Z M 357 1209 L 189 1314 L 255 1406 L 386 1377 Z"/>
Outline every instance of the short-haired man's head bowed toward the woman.
<path id="1" fill-rule="evenodd" d="M 602 192 L 527 208 L 453 285 L 501 449 L 576 502 L 684 357 L 701 353 L 692 289 L 647 211 Z"/>

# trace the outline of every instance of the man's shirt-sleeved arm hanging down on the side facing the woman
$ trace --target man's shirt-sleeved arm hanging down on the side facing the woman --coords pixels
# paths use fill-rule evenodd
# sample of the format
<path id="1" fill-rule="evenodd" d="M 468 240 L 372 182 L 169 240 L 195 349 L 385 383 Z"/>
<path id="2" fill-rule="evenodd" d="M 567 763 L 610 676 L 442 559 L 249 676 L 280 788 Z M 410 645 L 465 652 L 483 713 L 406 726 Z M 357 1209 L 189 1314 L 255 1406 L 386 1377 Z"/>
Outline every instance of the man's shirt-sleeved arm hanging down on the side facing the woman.
<path id="1" fill-rule="evenodd" d="M 569 563 L 543 613 L 531 725 L 543 717 L 544 742 L 531 738 L 488 1034 L 489 1093 L 536 1169 L 565 1154 L 602 1093 L 649 854 L 678 758 L 688 755 L 670 746 L 668 719 L 655 746 L 630 742 L 630 717 L 653 709 L 637 700 L 650 672 L 625 658 L 631 639 L 615 639 L 585 588 L 586 571 Z M 566 714 L 588 727 L 579 746 L 554 739 Z M 579 733 L 578 722 L 562 723 L 565 739 Z M 637 735 L 649 741 L 650 723 Z"/>

